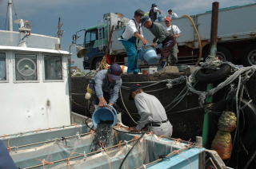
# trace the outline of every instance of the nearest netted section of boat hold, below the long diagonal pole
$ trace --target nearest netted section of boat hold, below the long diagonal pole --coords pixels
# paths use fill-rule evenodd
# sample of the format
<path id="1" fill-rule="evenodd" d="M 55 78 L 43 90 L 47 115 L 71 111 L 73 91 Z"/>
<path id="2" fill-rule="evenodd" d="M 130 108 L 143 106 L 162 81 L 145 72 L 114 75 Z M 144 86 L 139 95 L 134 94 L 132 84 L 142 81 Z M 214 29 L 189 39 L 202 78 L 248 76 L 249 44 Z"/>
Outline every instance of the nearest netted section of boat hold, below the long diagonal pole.
<path id="1" fill-rule="evenodd" d="M 158 140 L 154 135 L 146 135 L 138 141 L 138 137 L 134 140 L 126 141 L 118 147 L 110 147 L 106 150 L 102 149 L 97 154 L 85 155 L 82 159 L 70 160 L 66 163 L 60 163 L 54 169 L 82 169 L 82 168 L 119 168 L 123 169 L 141 167 L 144 163 L 150 163 L 164 155 L 168 155 L 171 151 L 178 149 L 172 147 L 172 144 Z M 130 151 L 132 149 L 132 151 Z M 130 153 L 128 154 L 128 152 Z M 125 159 L 125 160 L 124 160 Z"/>

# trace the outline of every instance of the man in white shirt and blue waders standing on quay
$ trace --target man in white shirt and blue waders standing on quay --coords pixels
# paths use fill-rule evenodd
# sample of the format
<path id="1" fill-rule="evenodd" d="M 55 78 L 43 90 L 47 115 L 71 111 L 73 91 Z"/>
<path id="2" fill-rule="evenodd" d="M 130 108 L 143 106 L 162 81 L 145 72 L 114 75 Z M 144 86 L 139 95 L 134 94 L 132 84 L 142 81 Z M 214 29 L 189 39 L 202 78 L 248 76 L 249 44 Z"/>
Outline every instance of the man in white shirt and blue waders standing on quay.
<path id="1" fill-rule="evenodd" d="M 138 74 L 139 71 L 137 55 L 138 39 L 144 45 L 148 43 L 142 34 L 142 16 L 144 16 L 144 12 L 142 10 L 136 10 L 134 12 L 134 18 L 127 23 L 125 31 L 122 33 L 121 38 L 119 38 L 126 49 L 126 55 L 128 57 L 127 73 Z"/>

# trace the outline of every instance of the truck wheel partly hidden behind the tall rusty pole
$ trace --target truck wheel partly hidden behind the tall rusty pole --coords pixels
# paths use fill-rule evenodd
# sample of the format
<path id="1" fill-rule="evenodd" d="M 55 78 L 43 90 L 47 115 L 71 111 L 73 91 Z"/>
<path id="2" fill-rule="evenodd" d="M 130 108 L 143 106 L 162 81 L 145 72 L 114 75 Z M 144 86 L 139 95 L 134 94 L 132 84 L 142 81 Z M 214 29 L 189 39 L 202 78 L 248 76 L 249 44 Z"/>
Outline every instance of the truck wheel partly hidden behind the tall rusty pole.
<path id="1" fill-rule="evenodd" d="M 202 51 L 202 56 L 203 56 L 203 61 L 206 61 L 206 58 L 208 57 L 209 54 L 209 45 L 206 46 L 206 48 L 203 49 Z M 222 45 L 218 45 L 217 46 L 217 57 L 219 60 L 221 61 L 233 61 L 233 57 L 230 53 L 229 49 L 226 49 L 226 47 L 223 47 Z"/>

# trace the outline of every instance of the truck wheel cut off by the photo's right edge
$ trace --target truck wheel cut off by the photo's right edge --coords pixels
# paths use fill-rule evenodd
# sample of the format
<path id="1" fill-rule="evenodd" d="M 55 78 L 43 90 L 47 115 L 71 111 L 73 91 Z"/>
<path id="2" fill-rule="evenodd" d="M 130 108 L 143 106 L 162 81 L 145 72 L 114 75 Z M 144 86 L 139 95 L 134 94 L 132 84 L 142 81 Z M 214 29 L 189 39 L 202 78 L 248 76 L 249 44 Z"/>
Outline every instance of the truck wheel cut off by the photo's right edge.
<path id="1" fill-rule="evenodd" d="M 243 65 L 256 65 L 256 45 L 250 45 L 242 56 Z"/>

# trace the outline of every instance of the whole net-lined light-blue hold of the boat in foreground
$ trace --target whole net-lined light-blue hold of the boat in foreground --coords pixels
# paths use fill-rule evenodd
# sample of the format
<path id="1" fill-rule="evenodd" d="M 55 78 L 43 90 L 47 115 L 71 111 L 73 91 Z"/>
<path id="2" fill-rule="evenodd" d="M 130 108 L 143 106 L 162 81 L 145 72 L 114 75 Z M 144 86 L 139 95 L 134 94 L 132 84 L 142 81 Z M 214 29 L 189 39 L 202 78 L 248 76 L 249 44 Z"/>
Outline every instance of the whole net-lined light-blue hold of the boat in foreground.
<path id="1" fill-rule="evenodd" d="M 98 144 L 98 140 L 102 144 Z M 184 146 L 153 134 L 142 136 L 109 130 L 105 125 L 98 133 L 63 137 L 54 142 L 10 151 L 10 155 L 20 168 L 107 169 L 121 165 L 122 168 L 136 168 Z"/>

